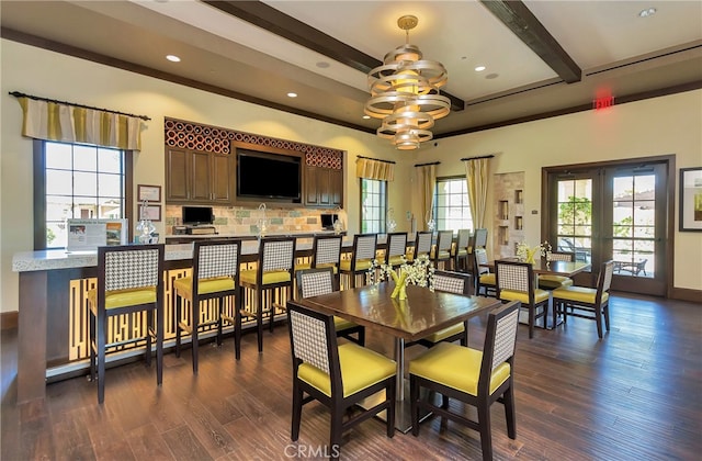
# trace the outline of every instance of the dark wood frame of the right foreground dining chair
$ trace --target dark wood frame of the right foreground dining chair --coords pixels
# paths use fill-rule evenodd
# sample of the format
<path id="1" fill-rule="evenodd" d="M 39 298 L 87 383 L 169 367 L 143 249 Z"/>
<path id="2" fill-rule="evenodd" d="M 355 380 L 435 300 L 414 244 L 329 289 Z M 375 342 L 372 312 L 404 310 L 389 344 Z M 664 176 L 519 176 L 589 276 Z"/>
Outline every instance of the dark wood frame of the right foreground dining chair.
<path id="1" fill-rule="evenodd" d="M 519 312 L 519 301 L 512 301 L 490 312 L 488 315 L 487 329 L 485 334 L 485 346 L 483 348 L 483 361 L 480 363 L 480 376 L 478 380 L 477 396 L 471 395 L 453 387 L 445 386 L 431 380 L 411 374 L 409 375 L 410 407 L 412 417 L 412 435 L 419 436 L 419 413 L 421 409 L 431 412 L 442 418 L 448 418 L 455 423 L 465 425 L 471 429 L 480 432 L 480 446 L 483 459 L 492 459 L 492 432 L 490 427 L 490 406 L 499 402 L 505 406 L 505 417 L 507 419 L 507 435 L 510 439 L 517 438 L 517 418 L 514 409 L 514 353 L 506 360 L 510 366 L 509 378 L 490 394 L 490 378 L 492 374 L 492 358 L 495 356 L 495 337 L 497 334 L 498 321 L 505 316 Z M 519 315 L 519 314 L 518 314 Z M 517 328 L 514 328 L 514 338 Z M 516 339 L 514 339 L 516 340 Z M 437 406 L 429 401 L 420 398 L 421 387 L 434 391 L 442 396 L 442 405 Z M 432 393 L 429 393 L 432 395 Z M 477 421 L 468 419 L 464 414 L 449 411 L 451 398 L 473 405 L 477 409 Z"/>

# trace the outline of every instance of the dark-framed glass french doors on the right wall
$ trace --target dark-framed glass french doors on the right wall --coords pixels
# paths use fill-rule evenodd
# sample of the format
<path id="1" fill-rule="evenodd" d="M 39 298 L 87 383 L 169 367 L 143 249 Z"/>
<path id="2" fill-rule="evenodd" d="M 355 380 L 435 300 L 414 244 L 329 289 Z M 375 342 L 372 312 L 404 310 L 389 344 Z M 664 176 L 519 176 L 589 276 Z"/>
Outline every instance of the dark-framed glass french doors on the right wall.
<path id="1" fill-rule="evenodd" d="M 544 239 L 591 263 L 612 289 L 666 295 L 672 280 L 673 157 L 544 168 Z"/>

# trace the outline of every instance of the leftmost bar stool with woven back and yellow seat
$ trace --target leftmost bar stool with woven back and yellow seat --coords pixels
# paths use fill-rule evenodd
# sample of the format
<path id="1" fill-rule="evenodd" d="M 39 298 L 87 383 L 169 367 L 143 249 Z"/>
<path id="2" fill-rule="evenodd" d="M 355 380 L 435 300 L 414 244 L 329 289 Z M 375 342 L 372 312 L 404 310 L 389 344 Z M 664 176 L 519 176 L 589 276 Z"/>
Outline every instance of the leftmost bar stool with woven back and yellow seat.
<path id="1" fill-rule="evenodd" d="M 98 248 L 98 284 L 87 296 L 90 379 L 98 380 L 99 404 L 105 400 L 105 353 L 109 348 L 124 349 L 144 344 L 144 357 L 150 367 L 154 339 L 156 383 L 161 385 L 163 382 L 163 254 L 162 244 Z M 114 324 L 120 316 L 129 316 L 127 322 L 133 325 L 132 330 L 138 329 L 144 336 L 114 337 L 117 328 L 110 328 L 110 321 Z M 110 339 L 112 341 L 107 342 Z"/>

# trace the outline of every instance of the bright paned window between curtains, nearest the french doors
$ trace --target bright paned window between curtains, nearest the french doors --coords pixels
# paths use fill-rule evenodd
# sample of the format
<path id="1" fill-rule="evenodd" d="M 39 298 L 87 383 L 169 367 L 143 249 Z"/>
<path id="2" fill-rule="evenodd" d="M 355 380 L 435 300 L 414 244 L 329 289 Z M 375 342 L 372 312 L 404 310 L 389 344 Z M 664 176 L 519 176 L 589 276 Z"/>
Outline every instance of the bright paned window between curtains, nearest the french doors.
<path id="1" fill-rule="evenodd" d="M 438 231 L 472 229 L 471 203 L 465 178 L 438 178 L 434 194 Z"/>

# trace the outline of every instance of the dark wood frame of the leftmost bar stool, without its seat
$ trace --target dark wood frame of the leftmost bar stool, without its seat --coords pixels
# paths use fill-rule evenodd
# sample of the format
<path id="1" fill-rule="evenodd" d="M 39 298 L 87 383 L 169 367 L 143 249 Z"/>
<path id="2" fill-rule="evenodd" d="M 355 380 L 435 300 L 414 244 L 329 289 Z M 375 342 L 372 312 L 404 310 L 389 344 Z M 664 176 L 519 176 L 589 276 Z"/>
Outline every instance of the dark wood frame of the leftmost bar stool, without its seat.
<path id="1" fill-rule="evenodd" d="M 154 251 L 158 252 L 156 302 L 134 304 L 124 307 L 105 308 L 106 293 L 106 255 L 120 251 Z M 109 347 L 123 346 L 125 342 L 107 344 L 107 318 L 118 315 L 147 313 L 147 334 L 144 357 L 147 366 L 151 366 L 151 338 L 156 341 L 156 383 L 163 382 L 163 244 L 155 245 L 121 245 L 98 248 L 98 296 L 97 305 L 88 303 L 89 334 L 90 334 L 90 379 L 98 380 L 98 403 L 105 400 L 105 352 Z M 155 318 L 156 317 L 156 318 Z M 127 342 L 137 342 L 144 338 L 136 338 Z M 95 376 L 97 361 L 97 376 Z"/>

